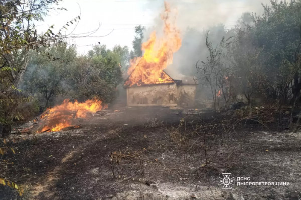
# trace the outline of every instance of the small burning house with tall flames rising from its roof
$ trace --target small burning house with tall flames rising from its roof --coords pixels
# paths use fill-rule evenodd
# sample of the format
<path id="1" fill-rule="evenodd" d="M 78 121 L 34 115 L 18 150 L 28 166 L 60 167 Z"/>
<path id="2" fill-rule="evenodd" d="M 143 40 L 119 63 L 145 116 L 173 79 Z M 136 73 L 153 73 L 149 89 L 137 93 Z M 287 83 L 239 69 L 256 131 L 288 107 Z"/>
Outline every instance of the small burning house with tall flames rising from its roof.
<path id="1" fill-rule="evenodd" d="M 175 12 L 177 13 L 177 12 Z M 129 77 L 124 87 L 127 106 L 181 106 L 194 104 L 196 84 L 172 79 L 164 69 L 173 63 L 173 53 L 181 47 L 181 34 L 176 27 L 176 16 L 165 2 L 161 15 L 163 34 L 156 31 L 142 44 L 142 57 L 131 61 Z"/>

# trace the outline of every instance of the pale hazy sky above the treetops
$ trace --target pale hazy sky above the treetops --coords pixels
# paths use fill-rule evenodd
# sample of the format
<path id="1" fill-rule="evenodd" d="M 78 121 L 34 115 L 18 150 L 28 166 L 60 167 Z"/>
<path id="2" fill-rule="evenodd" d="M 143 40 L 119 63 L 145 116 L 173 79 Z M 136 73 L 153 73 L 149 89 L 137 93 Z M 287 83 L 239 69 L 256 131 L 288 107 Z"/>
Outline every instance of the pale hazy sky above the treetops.
<path id="1" fill-rule="evenodd" d="M 160 12 L 163 10 L 163 0 L 65 0 L 61 6 L 68 11 L 52 11 L 43 23 L 37 24 L 40 30 L 51 25 L 61 28 L 81 13 L 81 20 L 73 33 L 85 33 L 100 29 L 92 36 L 68 40 L 76 44 L 80 53 L 87 53 L 92 45 L 98 42 L 112 48 L 116 44 L 132 47 L 134 27 L 143 25 L 148 30 L 157 26 Z M 227 28 L 236 24 L 243 12 L 262 14 L 261 3 L 268 4 L 269 0 L 170 0 L 173 8 L 178 9 L 178 26 L 182 31 L 187 27 L 199 30 L 223 23 Z M 71 31 L 72 26 L 68 31 Z M 68 33 L 67 31 L 67 33 Z"/>

